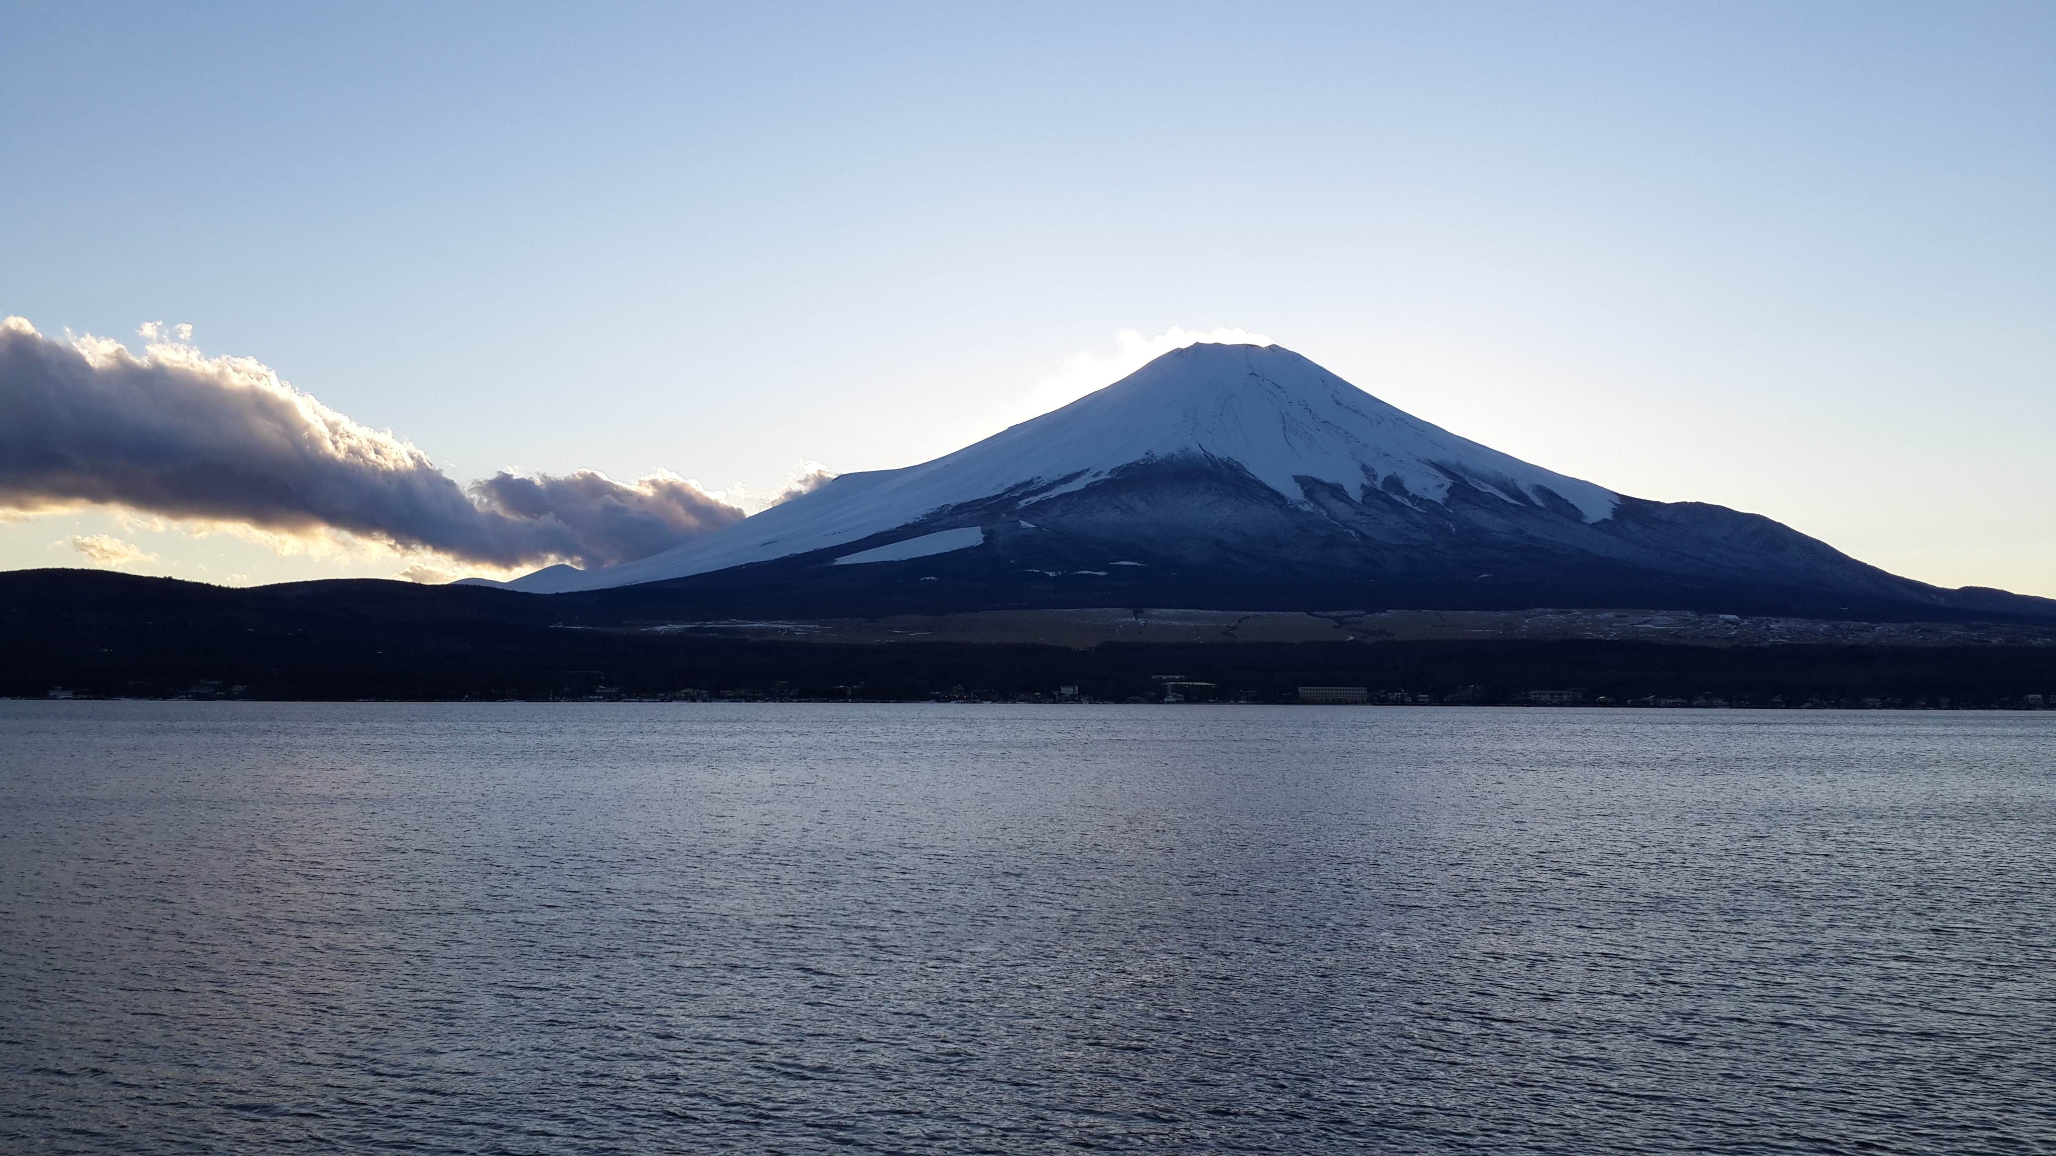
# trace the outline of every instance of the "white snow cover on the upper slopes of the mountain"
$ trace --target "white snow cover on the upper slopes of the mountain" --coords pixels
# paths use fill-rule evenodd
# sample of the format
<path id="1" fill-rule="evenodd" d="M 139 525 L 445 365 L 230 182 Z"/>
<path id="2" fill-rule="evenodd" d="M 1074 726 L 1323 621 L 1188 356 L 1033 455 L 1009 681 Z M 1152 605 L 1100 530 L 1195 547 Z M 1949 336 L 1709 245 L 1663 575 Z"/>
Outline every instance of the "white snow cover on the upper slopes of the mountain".
<path id="1" fill-rule="evenodd" d="M 1417 510 L 1464 487 L 1585 522 L 1610 518 L 1620 502 L 1610 490 L 1410 418 L 1281 346 L 1199 344 L 948 457 L 837 477 L 652 557 L 590 572 L 557 566 L 512 586 L 561 592 L 705 574 L 917 529 L 938 512 L 1001 496 L 1007 514 L 1034 522 L 1061 496 L 1172 463 L 1254 477 L 1304 508 L 1314 508 L 1310 481 L 1351 498 L 1378 492 Z"/>

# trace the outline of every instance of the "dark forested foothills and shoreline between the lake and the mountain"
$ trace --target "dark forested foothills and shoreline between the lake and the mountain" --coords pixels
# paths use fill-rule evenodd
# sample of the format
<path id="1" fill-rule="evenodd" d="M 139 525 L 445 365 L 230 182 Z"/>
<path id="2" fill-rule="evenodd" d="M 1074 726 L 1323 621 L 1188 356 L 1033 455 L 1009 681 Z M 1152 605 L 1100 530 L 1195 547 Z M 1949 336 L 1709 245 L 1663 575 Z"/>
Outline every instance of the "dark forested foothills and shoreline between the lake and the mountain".
<path id="1" fill-rule="evenodd" d="M 1647 706 L 2056 701 L 2056 646 L 1647 642 L 820 644 L 541 621 L 489 588 L 313 582 L 232 590 L 78 570 L 0 576 L 0 693 L 43 697 L 1055 697 Z M 1542 691 L 1542 693 L 1534 693 Z M 1554 691 L 1554 693 L 1552 693 Z"/>

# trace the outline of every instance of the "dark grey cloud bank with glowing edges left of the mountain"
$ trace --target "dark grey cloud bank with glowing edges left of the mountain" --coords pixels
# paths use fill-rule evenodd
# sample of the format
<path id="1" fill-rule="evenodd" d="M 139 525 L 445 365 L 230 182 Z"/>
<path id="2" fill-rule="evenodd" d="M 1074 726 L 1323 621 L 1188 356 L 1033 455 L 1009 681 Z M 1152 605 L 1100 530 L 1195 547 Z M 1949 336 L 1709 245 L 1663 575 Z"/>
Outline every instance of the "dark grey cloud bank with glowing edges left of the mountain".
<path id="1" fill-rule="evenodd" d="M 818 483 L 800 481 L 783 498 Z M 611 566 L 736 522 L 652 475 L 498 473 L 469 487 L 247 358 L 58 341 L 0 321 L 0 510 L 78 502 L 282 533 L 337 529 L 487 566 Z"/>

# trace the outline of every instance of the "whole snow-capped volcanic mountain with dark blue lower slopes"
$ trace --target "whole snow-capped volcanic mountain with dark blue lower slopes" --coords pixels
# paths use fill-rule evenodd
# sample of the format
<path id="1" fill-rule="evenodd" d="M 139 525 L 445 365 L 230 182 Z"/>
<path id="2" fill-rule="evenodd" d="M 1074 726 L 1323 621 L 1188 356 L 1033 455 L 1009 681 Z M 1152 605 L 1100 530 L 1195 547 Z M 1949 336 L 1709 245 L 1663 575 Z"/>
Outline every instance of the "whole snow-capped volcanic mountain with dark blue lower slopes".
<path id="1" fill-rule="evenodd" d="M 1291 350 L 1215 344 L 935 461 L 845 473 L 664 553 L 508 586 L 662 615 L 2056 613 L 1898 578 L 1758 514 L 1616 494 L 1421 422 Z"/>

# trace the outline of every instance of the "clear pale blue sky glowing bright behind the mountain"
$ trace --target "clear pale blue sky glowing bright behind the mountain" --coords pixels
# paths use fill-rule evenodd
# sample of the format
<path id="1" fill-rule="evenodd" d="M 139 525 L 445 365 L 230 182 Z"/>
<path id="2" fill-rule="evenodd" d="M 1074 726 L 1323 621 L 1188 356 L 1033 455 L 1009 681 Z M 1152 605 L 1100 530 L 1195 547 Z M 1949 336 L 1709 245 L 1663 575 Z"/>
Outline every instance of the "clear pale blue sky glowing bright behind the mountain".
<path id="1" fill-rule="evenodd" d="M 2052 62 L 2048 2 L 10 4 L 0 315 L 187 323 L 463 481 L 757 494 L 1240 327 L 1563 473 L 2056 594 Z M 401 570 L 109 510 L 0 525 L 0 568 L 90 535 Z"/>

